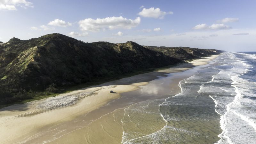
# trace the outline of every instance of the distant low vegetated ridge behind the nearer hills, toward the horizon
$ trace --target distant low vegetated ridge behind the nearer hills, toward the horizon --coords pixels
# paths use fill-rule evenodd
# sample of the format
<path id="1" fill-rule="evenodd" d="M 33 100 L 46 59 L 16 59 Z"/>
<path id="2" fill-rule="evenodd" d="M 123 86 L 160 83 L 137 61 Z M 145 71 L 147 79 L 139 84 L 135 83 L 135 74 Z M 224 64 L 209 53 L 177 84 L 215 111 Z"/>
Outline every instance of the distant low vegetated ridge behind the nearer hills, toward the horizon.
<path id="1" fill-rule="evenodd" d="M 209 55 L 219 54 L 223 51 L 215 49 L 198 49 L 190 47 L 165 47 L 165 46 L 144 46 L 150 50 L 156 52 L 162 52 L 167 56 L 181 59 L 181 60 L 192 60 L 200 57 Z"/>

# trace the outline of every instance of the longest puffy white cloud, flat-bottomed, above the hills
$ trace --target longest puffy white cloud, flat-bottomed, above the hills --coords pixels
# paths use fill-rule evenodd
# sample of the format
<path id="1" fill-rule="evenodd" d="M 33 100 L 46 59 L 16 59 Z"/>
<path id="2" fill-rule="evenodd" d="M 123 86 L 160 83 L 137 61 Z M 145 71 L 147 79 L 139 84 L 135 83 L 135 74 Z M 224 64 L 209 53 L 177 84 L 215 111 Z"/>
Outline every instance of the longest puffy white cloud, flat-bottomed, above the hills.
<path id="1" fill-rule="evenodd" d="M 120 17 L 107 17 L 103 19 L 84 19 L 78 22 L 81 30 L 100 31 L 101 29 L 124 28 L 131 29 L 140 24 L 140 17 L 135 20 Z"/>

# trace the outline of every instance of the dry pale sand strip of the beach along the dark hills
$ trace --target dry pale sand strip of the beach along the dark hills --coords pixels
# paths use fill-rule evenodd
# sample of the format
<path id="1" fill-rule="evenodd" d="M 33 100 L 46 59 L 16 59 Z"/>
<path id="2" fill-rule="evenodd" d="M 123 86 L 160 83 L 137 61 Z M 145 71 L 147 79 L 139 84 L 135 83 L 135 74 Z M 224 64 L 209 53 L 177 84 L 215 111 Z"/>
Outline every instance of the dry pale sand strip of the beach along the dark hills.
<path id="1" fill-rule="evenodd" d="M 69 121 L 79 116 L 87 115 L 89 112 L 107 105 L 111 100 L 119 99 L 121 94 L 125 92 L 140 89 L 141 86 L 149 84 L 150 81 L 157 79 L 158 76 L 166 76 L 169 73 L 182 72 L 195 66 L 208 64 L 208 61 L 214 60 L 217 56 L 204 57 L 203 59 L 196 59 L 168 69 L 139 74 L 60 94 L 55 97 L 2 108 L 0 112 L 0 126 L 4 127 L 4 129 L 1 128 L 0 142 L 33 141 L 38 132 L 54 127 L 56 124 L 70 124 L 68 123 Z M 177 91 L 177 85 L 175 89 L 176 92 L 179 92 Z M 110 90 L 118 93 L 109 93 Z M 12 126 L 10 127 L 9 125 Z"/>

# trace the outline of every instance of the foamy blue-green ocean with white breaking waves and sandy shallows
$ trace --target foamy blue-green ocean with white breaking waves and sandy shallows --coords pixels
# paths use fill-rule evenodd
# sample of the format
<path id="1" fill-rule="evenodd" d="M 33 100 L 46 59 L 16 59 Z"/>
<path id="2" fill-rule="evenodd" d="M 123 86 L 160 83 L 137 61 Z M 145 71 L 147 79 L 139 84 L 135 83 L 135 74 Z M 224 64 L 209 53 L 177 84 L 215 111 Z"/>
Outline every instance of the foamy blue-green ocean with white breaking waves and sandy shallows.
<path id="1" fill-rule="evenodd" d="M 256 143 L 255 66 L 256 52 L 225 52 L 185 71 L 195 74 L 180 81 L 179 94 L 124 109 L 122 143 Z M 172 75 L 137 94 L 158 95 Z"/>

